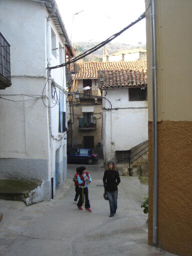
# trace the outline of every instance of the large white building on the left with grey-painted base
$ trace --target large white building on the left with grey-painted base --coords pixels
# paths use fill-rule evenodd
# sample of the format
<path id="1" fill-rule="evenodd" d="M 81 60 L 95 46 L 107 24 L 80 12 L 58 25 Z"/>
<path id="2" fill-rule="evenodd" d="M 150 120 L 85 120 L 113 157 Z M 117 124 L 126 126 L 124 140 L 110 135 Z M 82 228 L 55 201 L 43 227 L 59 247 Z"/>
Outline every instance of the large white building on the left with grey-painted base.
<path id="1" fill-rule="evenodd" d="M 0 99 L 0 178 L 40 180 L 36 202 L 66 177 L 66 71 L 47 67 L 71 45 L 55 1 L 1 0 L 0 9 L 12 81 Z"/>

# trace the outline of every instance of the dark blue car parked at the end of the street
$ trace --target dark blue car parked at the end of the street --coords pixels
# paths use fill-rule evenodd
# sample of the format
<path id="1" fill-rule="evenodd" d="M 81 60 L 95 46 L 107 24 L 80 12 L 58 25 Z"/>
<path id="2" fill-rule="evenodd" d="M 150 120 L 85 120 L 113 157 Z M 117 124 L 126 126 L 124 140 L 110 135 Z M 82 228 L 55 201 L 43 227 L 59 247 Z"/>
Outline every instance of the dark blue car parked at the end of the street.
<path id="1" fill-rule="evenodd" d="M 67 151 L 67 162 L 93 164 L 96 161 L 98 161 L 98 155 L 92 148 L 71 148 Z"/>

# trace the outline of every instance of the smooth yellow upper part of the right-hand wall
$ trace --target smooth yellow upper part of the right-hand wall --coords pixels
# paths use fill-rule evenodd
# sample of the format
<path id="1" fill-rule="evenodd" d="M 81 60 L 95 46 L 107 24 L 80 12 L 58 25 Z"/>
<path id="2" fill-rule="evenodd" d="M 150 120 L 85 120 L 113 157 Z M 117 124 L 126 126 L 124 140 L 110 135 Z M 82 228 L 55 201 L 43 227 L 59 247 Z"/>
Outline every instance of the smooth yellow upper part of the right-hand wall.
<path id="1" fill-rule="evenodd" d="M 156 0 L 158 119 L 192 120 L 192 1 Z M 146 1 L 146 5 L 148 0 Z M 146 13 L 149 120 L 152 119 L 150 8 Z"/>

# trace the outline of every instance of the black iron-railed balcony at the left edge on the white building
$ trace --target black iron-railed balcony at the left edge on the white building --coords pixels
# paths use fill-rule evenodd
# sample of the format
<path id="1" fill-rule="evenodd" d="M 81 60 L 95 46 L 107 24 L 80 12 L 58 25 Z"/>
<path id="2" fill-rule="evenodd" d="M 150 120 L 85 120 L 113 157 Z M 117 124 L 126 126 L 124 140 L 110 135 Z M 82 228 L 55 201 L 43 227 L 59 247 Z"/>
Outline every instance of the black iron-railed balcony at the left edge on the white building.
<path id="1" fill-rule="evenodd" d="M 10 44 L 0 33 L 0 89 L 10 85 Z"/>

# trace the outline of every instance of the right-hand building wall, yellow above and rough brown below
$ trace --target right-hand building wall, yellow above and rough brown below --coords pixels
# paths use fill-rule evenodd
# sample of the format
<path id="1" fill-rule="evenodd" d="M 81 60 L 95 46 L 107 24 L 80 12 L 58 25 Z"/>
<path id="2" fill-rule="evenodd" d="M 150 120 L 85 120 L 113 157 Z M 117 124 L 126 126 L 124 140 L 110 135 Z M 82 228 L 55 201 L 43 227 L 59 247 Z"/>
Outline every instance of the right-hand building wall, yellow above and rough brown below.
<path id="1" fill-rule="evenodd" d="M 155 0 L 157 184 L 153 183 L 150 8 L 146 13 L 149 135 L 148 242 L 182 256 L 192 252 L 191 9 L 190 0 Z M 148 6 L 149 1 L 146 1 Z M 171 10 L 171 11 L 170 11 Z M 153 211 L 153 187 L 157 210 Z M 157 226 L 153 225 L 154 215 Z"/>

